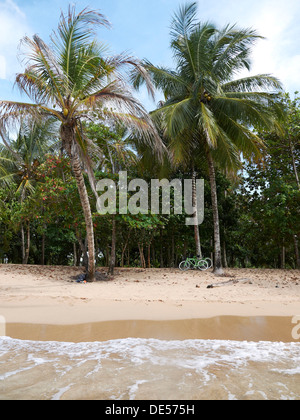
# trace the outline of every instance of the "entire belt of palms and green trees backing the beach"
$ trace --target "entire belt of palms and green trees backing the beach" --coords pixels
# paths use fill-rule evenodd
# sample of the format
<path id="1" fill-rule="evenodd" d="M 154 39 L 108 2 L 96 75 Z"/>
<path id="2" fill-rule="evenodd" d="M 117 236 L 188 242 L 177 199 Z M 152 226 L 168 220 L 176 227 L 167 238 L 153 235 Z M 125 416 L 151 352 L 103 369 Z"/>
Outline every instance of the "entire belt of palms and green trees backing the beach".
<path id="1" fill-rule="evenodd" d="M 49 45 L 22 41 L 16 85 L 28 102 L 0 100 L 0 263 L 84 265 L 88 281 L 97 266 L 113 275 L 200 254 L 215 274 L 300 268 L 300 98 L 274 76 L 240 77 L 260 36 L 201 23 L 184 5 L 166 68 L 109 55 L 95 33 L 108 26 L 70 7 Z M 164 96 L 151 113 L 134 95 L 142 84 Z M 97 181 L 118 185 L 124 170 L 128 181 L 204 179 L 204 223 L 98 214 Z"/>

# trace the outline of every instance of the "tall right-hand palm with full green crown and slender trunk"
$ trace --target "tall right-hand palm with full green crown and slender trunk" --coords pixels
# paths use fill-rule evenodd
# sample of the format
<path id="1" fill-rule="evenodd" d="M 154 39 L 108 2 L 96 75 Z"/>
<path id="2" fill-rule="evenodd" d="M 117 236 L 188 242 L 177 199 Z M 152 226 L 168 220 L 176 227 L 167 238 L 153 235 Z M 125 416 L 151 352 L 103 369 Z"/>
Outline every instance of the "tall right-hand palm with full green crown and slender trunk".
<path id="1" fill-rule="evenodd" d="M 205 157 L 211 185 L 214 221 L 215 274 L 222 274 L 216 165 L 227 170 L 241 166 L 240 153 L 261 156 L 263 141 L 253 127 L 269 129 L 280 114 L 280 82 L 270 75 L 237 79 L 250 70 L 250 54 L 261 37 L 251 29 L 226 26 L 219 30 L 196 19 L 197 3 L 179 9 L 171 25 L 171 48 L 176 68 L 144 65 L 154 85 L 163 91 L 163 106 L 152 113 L 164 121 L 164 136 L 176 160 L 195 149 Z M 135 86 L 143 83 L 135 77 Z"/>

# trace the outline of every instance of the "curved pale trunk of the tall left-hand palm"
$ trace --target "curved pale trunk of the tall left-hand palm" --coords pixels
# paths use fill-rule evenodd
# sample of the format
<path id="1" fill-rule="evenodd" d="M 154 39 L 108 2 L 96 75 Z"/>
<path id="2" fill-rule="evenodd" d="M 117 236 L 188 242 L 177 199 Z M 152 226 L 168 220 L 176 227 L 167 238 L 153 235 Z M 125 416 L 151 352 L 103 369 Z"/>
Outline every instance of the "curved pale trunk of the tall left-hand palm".
<path id="1" fill-rule="evenodd" d="M 84 214 L 85 225 L 86 225 L 86 235 L 88 241 L 88 267 L 87 267 L 87 281 L 95 281 L 95 240 L 94 240 L 94 225 L 92 218 L 92 211 L 89 201 L 89 196 L 84 182 L 84 177 L 82 174 L 81 164 L 79 156 L 77 153 L 74 153 L 71 149 L 71 145 L 74 144 L 74 131 L 73 127 L 61 127 L 61 137 L 64 146 L 67 149 L 67 153 L 71 158 L 71 166 L 74 177 L 76 179 L 77 188 L 80 196 L 80 202 Z"/>

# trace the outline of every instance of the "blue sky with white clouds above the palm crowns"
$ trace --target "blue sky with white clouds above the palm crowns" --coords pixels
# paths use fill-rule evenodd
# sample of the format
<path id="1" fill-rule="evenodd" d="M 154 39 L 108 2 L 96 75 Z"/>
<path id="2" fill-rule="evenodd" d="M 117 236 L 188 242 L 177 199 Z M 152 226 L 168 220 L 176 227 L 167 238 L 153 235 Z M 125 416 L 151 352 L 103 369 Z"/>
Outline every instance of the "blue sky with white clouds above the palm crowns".
<path id="1" fill-rule="evenodd" d="M 172 65 L 169 25 L 182 0 L 0 0 L 0 99 L 20 100 L 12 89 L 15 74 L 22 70 L 16 58 L 20 39 L 38 33 L 48 41 L 61 10 L 67 11 L 70 3 L 77 10 L 100 9 L 109 19 L 112 29 L 103 28 L 98 38 L 113 53 L 127 51 L 154 64 Z M 198 0 L 198 4 L 201 21 L 258 30 L 267 39 L 254 49 L 251 72 L 275 75 L 290 93 L 300 90 L 299 0 Z M 139 97 L 146 108 L 153 108 L 145 92 Z"/>

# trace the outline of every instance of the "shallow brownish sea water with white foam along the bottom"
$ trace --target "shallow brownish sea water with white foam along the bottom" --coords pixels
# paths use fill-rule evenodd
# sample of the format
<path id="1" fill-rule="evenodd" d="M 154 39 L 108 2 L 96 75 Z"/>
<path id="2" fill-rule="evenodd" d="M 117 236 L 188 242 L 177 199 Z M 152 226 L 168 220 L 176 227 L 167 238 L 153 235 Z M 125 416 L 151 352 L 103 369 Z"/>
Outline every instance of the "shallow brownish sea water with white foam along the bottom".
<path id="1" fill-rule="evenodd" d="M 300 399 L 300 344 L 0 339 L 0 399 Z"/>

